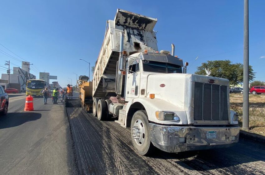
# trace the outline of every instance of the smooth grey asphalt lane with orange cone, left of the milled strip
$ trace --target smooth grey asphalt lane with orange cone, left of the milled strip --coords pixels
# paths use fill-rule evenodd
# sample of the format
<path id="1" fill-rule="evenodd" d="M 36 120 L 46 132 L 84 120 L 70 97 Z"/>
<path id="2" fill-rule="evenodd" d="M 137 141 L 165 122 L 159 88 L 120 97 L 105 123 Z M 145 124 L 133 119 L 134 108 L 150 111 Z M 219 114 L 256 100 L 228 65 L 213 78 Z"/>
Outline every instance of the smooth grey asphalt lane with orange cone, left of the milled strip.
<path id="1" fill-rule="evenodd" d="M 34 111 L 24 111 L 25 98 L 11 94 L 0 116 L 0 174 L 78 174 L 64 104 L 34 98 Z"/>

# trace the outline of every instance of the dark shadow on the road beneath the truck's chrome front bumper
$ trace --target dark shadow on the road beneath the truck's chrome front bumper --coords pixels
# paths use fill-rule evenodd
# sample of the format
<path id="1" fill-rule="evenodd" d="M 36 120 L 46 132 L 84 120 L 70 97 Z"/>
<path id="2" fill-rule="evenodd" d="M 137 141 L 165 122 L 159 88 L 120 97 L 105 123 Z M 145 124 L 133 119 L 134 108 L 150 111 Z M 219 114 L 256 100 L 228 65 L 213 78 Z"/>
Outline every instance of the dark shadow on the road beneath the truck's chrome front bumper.
<path id="1" fill-rule="evenodd" d="M 252 146 L 253 145 L 253 146 Z M 156 150 L 157 154 L 150 157 L 164 159 L 178 159 L 175 163 L 190 170 L 208 171 L 220 168 L 238 166 L 242 163 L 265 161 L 265 152 L 255 150 L 255 143 L 240 140 L 235 146 L 230 148 L 219 148 L 200 151 L 187 151 L 181 153 L 166 153 Z M 228 171 L 229 172 L 229 171 Z M 233 174 L 233 173 L 232 173 Z"/>

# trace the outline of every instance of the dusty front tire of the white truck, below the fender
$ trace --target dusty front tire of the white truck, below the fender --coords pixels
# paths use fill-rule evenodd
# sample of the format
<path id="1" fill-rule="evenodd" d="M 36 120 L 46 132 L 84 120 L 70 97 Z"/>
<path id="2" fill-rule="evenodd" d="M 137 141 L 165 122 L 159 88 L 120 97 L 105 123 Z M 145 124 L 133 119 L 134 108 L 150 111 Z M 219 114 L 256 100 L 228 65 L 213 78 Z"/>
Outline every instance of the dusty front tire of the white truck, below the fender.
<path id="1" fill-rule="evenodd" d="M 140 126 L 140 127 L 142 126 L 142 128 L 144 128 L 144 132 L 139 133 L 140 135 L 139 139 L 133 138 L 135 134 L 134 132 L 135 130 L 137 130 L 133 128 L 135 126 Z M 140 131 L 140 130 L 137 130 L 137 131 Z M 149 122 L 148 122 L 147 113 L 145 110 L 139 110 L 133 114 L 132 121 L 131 121 L 131 139 L 132 139 L 132 144 L 134 148 L 138 151 L 139 154 L 147 155 L 147 154 L 152 153 L 152 151 L 154 150 L 154 146 L 151 143 Z M 144 139 L 143 143 L 140 142 L 142 141 L 142 139 Z"/>

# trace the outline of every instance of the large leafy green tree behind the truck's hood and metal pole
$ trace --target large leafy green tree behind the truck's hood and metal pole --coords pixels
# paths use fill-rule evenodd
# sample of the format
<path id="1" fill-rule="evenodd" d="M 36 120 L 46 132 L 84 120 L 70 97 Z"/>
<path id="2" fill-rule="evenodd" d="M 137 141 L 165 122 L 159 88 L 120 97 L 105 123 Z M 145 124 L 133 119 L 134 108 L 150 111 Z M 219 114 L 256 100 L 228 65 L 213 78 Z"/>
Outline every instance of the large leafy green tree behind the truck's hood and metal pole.
<path id="1" fill-rule="evenodd" d="M 195 74 L 206 75 L 205 68 L 211 70 L 210 76 L 229 79 L 231 85 L 243 83 L 243 64 L 232 63 L 230 60 L 214 60 L 201 63 Z M 249 66 L 249 81 L 253 81 L 255 73 Z"/>

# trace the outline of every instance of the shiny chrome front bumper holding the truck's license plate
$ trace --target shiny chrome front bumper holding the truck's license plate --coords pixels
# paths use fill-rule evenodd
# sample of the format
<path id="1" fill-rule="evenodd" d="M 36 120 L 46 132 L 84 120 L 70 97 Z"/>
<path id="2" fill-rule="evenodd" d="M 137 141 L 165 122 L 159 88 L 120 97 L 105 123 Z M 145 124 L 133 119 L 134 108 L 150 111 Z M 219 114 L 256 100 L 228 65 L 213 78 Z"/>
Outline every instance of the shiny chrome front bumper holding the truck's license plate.
<path id="1" fill-rule="evenodd" d="M 239 130 L 237 126 L 177 127 L 149 123 L 151 142 L 169 153 L 230 147 L 239 141 Z M 207 139 L 207 131 L 216 131 L 216 138 Z M 235 141 L 232 141 L 232 136 L 236 136 Z M 179 138 L 186 138 L 186 142 L 179 143 Z"/>

